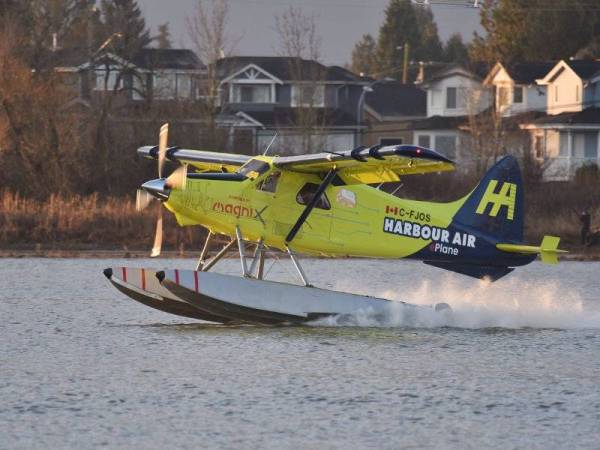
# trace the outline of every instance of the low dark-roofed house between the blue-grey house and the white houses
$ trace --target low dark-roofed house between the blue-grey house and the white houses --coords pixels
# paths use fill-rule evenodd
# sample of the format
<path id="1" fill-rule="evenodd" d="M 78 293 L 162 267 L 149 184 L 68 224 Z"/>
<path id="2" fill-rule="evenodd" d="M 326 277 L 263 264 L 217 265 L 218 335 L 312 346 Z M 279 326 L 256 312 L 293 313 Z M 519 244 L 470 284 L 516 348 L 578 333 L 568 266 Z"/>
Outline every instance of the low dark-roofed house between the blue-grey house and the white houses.
<path id="1" fill-rule="evenodd" d="M 362 144 L 399 145 L 413 142 L 412 121 L 427 114 L 427 93 L 413 84 L 379 80 L 367 86 L 364 113 L 368 130 Z"/>

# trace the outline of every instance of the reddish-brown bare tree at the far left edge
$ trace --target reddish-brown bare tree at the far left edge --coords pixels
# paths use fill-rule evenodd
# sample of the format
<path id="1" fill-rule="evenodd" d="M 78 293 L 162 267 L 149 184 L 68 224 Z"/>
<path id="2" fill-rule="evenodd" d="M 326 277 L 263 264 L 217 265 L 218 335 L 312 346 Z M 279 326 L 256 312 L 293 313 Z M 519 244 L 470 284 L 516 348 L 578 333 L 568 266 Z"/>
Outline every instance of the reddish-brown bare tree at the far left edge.
<path id="1" fill-rule="evenodd" d="M 4 183 L 40 197 L 72 192 L 78 178 L 79 133 L 64 105 L 74 97 L 49 72 L 24 60 L 15 21 L 0 23 L 0 158 Z"/>

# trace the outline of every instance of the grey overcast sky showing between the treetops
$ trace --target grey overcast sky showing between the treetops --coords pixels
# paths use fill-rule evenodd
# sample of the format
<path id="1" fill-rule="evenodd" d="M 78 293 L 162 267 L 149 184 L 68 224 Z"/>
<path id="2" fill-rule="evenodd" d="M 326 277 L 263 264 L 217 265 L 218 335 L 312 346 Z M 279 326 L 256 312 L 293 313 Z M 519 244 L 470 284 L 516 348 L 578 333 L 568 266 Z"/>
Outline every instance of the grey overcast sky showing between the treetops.
<path id="1" fill-rule="evenodd" d="M 175 47 L 189 47 L 185 18 L 194 11 L 197 0 L 138 0 L 146 21 L 155 33 L 157 26 L 169 22 Z M 314 14 L 322 37 L 323 61 L 343 65 L 350 61 L 352 47 L 363 34 L 377 36 L 388 0 L 230 0 L 230 32 L 241 37 L 239 55 L 270 55 L 276 48 L 273 30 L 275 14 L 290 5 Z M 479 10 L 456 6 L 434 6 L 440 38 L 446 40 L 459 32 L 470 40 L 479 28 Z"/>

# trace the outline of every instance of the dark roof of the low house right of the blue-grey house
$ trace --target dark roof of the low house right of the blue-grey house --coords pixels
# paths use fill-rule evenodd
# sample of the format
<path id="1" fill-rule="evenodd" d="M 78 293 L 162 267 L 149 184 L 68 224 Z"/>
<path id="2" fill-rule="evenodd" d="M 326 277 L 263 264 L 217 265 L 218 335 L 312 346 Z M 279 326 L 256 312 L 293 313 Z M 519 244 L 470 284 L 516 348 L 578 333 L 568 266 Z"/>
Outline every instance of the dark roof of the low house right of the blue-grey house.
<path id="1" fill-rule="evenodd" d="M 365 95 L 365 104 L 383 117 L 425 116 L 427 114 L 427 93 L 412 84 L 398 81 L 380 82 L 373 92 Z"/>

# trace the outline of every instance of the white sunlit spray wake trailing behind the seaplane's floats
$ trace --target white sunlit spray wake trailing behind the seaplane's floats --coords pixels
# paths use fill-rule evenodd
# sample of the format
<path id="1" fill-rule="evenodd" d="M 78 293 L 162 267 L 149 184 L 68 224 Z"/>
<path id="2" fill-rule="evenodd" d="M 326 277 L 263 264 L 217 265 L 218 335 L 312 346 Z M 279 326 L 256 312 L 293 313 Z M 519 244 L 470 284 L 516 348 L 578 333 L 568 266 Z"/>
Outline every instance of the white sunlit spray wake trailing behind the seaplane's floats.
<path id="1" fill-rule="evenodd" d="M 348 284 L 340 290 L 352 291 Z M 457 328 L 600 328 L 600 303 L 585 304 L 581 297 L 558 282 L 536 283 L 518 278 L 469 287 L 447 278 L 435 284 L 399 292 L 388 290 L 378 297 L 396 300 L 386 314 L 361 311 L 352 316 L 317 320 L 314 326 L 360 327 L 457 327 Z M 452 310 L 412 307 L 447 303 Z"/>

